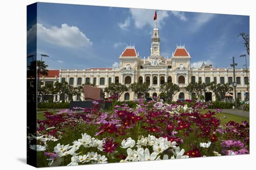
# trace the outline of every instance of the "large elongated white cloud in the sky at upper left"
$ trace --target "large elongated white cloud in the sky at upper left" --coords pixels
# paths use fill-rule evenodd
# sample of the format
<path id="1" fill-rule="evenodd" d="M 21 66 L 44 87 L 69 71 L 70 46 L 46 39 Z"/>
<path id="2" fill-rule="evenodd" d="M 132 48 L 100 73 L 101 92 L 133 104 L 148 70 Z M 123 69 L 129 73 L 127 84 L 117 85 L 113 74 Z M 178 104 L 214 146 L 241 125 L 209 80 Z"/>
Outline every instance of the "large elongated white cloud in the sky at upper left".
<path id="1" fill-rule="evenodd" d="M 76 26 L 62 24 L 61 27 L 52 26 L 47 28 L 37 23 L 27 31 L 28 40 L 33 36 L 35 30 L 37 31 L 37 37 L 39 39 L 50 44 L 71 48 L 91 47 L 93 45 L 90 39 Z"/>

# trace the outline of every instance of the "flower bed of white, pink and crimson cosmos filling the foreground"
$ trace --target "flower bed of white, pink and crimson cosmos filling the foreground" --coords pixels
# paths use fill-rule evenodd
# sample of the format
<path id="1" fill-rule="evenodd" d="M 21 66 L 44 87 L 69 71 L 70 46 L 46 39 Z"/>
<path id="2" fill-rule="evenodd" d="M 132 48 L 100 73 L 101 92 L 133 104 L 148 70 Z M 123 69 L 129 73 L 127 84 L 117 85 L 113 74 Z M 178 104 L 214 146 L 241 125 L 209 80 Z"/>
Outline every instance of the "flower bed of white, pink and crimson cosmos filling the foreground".
<path id="1" fill-rule="evenodd" d="M 220 126 L 209 103 L 138 101 L 112 112 L 74 108 L 45 112 L 36 136 L 28 136 L 38 166 L 104 164 L 249 153 L 249 123 Z M 217 109 L 216 112 L 221 112 Z M 35 135 L 35 134 L 34 134 Z M 32 141 L 37 140 L 37 145 Z"/>

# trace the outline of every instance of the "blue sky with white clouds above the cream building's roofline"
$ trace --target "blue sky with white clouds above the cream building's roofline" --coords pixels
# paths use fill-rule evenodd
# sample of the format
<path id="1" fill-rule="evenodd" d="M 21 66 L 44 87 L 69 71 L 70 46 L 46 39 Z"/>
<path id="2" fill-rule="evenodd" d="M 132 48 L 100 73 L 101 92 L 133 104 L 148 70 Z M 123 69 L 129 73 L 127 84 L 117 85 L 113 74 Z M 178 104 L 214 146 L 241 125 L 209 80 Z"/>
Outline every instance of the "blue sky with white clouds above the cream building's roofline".
<path id="1" fill-rule="evenodd" d="M 140 56 L 148 57 L 154 13 L 148 9 L 38 3 L 38 55 L 50 56 L 44 58 L 48 69 L 112 67 L 127 44 L 135 44 Z M 171 57 L 176 44 L 185 44 L 195 67 L 205 61 L 226 68 L 234 56 L 243 68 L 244 58 L 239 56 L 246 49 L 242 37 L 236 36 L 249 33 L 249 16 L 157 10 L 157 23 L 164 57 Z M 33 29 L 28 24 L 27 31 Z"/>

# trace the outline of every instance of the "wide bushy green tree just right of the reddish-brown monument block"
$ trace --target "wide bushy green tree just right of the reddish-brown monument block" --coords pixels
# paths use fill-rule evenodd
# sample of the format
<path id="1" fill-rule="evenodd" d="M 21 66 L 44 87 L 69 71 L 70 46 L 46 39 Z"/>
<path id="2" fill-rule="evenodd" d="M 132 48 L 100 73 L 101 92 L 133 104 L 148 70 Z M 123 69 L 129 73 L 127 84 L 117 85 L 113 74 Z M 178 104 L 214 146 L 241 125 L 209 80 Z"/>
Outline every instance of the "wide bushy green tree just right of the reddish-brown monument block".
<path id="1" fill-rule="evenodd" d="M 128 87 L 125 84 L 121 84 L 119 82 L 109 83 L 108 87 L 104 89 L 104 91 L 110 95 L 116 94 L 118 98 L 124 93 L 128 91 Z"/>

